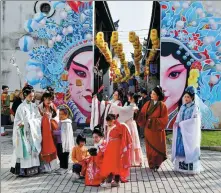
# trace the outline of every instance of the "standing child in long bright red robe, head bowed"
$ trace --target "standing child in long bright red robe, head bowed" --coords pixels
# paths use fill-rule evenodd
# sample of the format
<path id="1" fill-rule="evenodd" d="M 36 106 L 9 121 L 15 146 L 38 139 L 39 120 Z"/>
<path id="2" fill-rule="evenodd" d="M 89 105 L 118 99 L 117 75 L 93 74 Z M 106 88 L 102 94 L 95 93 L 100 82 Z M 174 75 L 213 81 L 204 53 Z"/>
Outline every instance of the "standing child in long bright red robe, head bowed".
<path id="1" fill-rule="evenodd" d="M 130 174 L 131 167 L 131 146 L 132 138 L 126 124 L 119 123 L 114 114 L 109 114 L 106 118 L 107 147 L 101 166 L 101 176 L 106 180 L 101 187 L 119 186 L 120 180 L 126 182 Z"/>

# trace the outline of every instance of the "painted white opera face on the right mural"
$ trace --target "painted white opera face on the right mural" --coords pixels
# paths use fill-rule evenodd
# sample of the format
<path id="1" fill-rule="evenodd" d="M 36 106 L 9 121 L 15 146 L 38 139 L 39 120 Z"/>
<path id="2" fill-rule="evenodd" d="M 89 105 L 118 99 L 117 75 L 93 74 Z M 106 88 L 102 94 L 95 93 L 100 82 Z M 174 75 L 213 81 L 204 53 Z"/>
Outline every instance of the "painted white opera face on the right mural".
<path id="1" fill-rule="evenodd" d="M 161 56 L 160 85 L 165 94 L 165 103 L 171 113 L 178 106 L 186 86 L 187 70 L 172 55 Z"/>

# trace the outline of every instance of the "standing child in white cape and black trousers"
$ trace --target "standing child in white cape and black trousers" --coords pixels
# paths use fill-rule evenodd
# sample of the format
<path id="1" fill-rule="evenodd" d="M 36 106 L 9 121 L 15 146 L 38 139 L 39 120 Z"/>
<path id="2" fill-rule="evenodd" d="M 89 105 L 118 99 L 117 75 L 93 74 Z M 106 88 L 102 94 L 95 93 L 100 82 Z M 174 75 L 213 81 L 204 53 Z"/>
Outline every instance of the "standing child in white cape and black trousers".
<path id="1" fill-rule="evenodd" d="M 57 171 L 58 174 L 66 173 L 68 169 L 69 153 L 74 146 L 72 121 L 69 119 L 69 114 L 70 111 L 68 107 L 63 105 L 59 108 L 59 129 L 53 131 L 57 143 L 57 154 L 60 160 L 60 169 Z"/>

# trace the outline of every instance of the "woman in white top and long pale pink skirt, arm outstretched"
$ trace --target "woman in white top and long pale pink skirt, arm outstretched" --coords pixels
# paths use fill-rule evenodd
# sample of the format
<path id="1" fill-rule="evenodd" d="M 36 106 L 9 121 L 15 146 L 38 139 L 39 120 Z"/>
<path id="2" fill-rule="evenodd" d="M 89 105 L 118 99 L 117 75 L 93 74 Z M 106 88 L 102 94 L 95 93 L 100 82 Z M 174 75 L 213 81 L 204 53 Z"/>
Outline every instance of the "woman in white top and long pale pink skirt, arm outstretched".
<path id="1" fill-rule="evenodd" d="M 137 124 L 134 120 L 135 111 L 138 110 L 137 103 L 139 95 L 130 93 L 128 95 L 128 106 L 117 106 L 112 105 L 112 112 L 118 114 L 118 121 L 125 123 L 130 129 L 132 137 L 132 148 L 131 148 L 131 164 L 132 166 L 142 166 L 143 164 L 143 153 L 140 145 L 139 134 L 137 130 Z"/>

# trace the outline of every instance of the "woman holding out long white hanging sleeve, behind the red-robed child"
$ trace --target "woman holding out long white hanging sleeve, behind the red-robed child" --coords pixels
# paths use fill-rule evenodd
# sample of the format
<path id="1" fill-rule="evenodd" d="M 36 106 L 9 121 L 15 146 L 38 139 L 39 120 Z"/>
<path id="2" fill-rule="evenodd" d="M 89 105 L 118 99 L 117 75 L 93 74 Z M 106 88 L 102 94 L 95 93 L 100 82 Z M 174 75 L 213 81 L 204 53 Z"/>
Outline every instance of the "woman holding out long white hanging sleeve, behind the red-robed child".
<path id="1" fill-rule="evenodd" d="M 113 98 L 110 101 L 101 101 L 99 103 L 97 96 L 94 95 L 92 100 L 92 112 L 91 112 L 91 123 L 90 128 L 91 130 L 94 129 L 98 124 L 101 124 L 104 130 L 104 136 L 106 138 L 106 117 L 108 114 L 113 114 L 112 106 L 122 106 L 122 92 L 120 90 L 116 90 L 113 93 Z"/>

